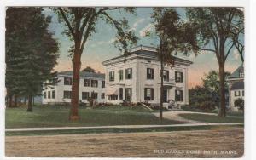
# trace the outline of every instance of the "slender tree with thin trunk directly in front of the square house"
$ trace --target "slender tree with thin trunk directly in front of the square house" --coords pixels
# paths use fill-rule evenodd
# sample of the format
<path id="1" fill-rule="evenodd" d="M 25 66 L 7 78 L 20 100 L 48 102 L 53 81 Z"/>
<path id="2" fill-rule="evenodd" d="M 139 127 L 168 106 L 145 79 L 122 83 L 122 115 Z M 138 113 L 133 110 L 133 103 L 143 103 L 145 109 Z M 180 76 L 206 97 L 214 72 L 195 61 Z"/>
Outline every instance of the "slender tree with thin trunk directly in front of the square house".
<path id="1" fill-rule="evenodd" d="M 147 33 L 147 36 L 152 34 L 159 38 L 159 45 L 157 46 L 157 53 L 160 58 L 160 122 L 163 114 L 163 71 L 164 66 L 174 66 L 174 54 L 178 52 L 187 53 L 189 48 L 185 47 L 183 39 L 179 37 L 183 30 L 180 30 L 183 22 L 180 19 L 177 11 L 172 8 L 154 8 L 151 18 L 154 23 L 154 33 Z"/>

